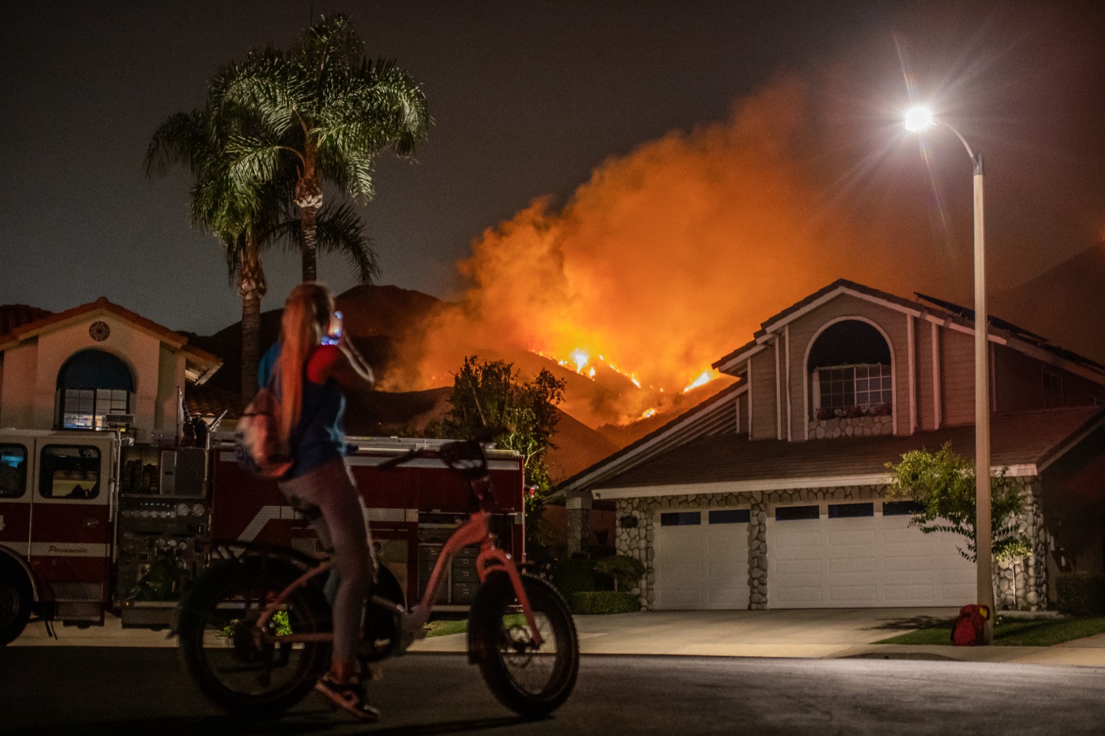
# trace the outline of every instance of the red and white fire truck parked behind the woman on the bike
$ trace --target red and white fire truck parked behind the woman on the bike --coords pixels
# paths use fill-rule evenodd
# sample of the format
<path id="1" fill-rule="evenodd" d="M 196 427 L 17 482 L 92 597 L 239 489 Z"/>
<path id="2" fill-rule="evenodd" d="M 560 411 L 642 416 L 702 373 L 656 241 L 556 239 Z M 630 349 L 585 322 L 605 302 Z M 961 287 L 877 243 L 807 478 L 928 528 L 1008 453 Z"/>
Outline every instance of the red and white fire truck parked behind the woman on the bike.
<path id="1" fill-rule="evenodd" d="M 442 543 L 467 516 L 467 486 L 442 463 L 381 471 L 413 448 L 446 440 L 349 438 L 347 459 L 366 506 L 380 585 L 415 601 Z M 276 484 L 242 471 L 232 437 L 179 446 L 135 444 L 126 432 L 0 430 L 0 644 L 32 617 L 52 624 L 170 623 L 176 601 L 220 544 L 291 546 L 323 556 L 311 527 Z M 194 443 L 193 443 L 194 444 Z M 523 558 L 522 458 L 488 451 L 494 530 Z M 435 601 L 462 610 L 476 586 L 475 555 L 454 559 Z"/>

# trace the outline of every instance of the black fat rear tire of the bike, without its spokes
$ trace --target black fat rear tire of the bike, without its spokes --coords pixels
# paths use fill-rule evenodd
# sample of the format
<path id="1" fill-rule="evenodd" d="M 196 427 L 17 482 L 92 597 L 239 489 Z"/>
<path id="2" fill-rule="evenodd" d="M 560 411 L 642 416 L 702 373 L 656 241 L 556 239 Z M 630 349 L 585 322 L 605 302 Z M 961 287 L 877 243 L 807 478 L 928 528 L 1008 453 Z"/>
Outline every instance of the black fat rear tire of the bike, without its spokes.
<path id="1" fill-rule="evenodd" d="M 306 643 L 301 650 L 305 652 L 304 664 L 298 667 L 292 682 L 269 692 L 249 695 L 227 687 L 204 655 L 203 637 L 208 617 L 220 603 L 230 600 L 235 590 L 252 587 L 280 592 L 302 572 L 301 568 L 283 560 L 232 560 L 201 575 L 181 599 L 177 633 L 185 670 L 200 692 L 223 709 L 251 717 L 277 716 L 306 697 L 329 665 L 329 643 Z M 308 583 L 296 591 L 293 599 L 309 610 L 312 621 L 318 623 L 317 630 L 329 630 L 329 607 L 318 586 Z"/>

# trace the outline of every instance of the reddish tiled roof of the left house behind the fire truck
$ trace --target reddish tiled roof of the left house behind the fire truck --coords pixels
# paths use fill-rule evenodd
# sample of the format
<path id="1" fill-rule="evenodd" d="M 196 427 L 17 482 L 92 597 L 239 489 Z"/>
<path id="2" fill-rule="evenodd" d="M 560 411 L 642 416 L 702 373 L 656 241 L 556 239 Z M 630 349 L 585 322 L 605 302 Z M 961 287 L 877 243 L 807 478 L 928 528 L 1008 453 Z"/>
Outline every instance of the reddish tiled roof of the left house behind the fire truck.
<path id="1" fill-rule="evenodd" d="M 0 351 L 19 345 L 23 340 L 36 337 L 42 333 L 56 329 L 77 319 L 87 319 L 96 314 L 112 314 L 124 322 L 130 323 L 136 328 L 157 337 L 173 350 L 182 353 L 187 360 L 186 375 L 189 380 L 196 383 L 202 383 L 222 366 L 220 358 L 207 350 L 189 345 L 188 338 L 180 333 L 164 327 L 118 304 L 113 304 L 103 296 L 95 302 L 82 304 L 57 313 L 22 304 L 0 306 L 0 316 L 6 319 L 6 322 L 0 323 L 0 326 L 4 328 L 0 333 Z"/>

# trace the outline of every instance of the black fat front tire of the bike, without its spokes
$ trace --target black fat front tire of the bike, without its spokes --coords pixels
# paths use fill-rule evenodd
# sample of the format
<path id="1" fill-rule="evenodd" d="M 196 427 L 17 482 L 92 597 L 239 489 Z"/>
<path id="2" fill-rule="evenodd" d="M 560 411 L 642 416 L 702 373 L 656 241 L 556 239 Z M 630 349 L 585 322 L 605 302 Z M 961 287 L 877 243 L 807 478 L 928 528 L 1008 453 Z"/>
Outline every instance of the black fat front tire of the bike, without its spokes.
<path id="1" fill-rule="evenodd" d="M 576 686 L 579 640 L 568 604 L 549 582 L 523 575 L 522 582 L 535 616 L 549 622 L 556 643 L 552 674 L 539 693 L 529 692 L 512 677 L 504 661 L 503 617 L 516 612 L 514 586 L 505 572 L 493 572 L 480 587 L 469 614 L 469 654 L 480 665 L 487 687 L 499 703 L 525 717 L 540 717 L 560 707 Z"/>

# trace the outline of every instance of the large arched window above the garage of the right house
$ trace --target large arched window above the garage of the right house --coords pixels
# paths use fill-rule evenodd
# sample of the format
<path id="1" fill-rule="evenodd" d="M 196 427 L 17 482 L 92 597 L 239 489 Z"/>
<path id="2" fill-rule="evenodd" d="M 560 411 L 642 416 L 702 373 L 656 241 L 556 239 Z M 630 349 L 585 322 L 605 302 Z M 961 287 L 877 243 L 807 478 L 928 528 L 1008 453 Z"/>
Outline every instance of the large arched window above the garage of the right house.
<path id="1" fill-rule="evenodd" d="M 827 327 L 810 347 L 807 370 L 814 418 L 891 413 L 891 348 L 872 325 L 844 319 Z"/>

